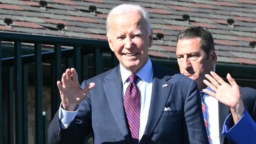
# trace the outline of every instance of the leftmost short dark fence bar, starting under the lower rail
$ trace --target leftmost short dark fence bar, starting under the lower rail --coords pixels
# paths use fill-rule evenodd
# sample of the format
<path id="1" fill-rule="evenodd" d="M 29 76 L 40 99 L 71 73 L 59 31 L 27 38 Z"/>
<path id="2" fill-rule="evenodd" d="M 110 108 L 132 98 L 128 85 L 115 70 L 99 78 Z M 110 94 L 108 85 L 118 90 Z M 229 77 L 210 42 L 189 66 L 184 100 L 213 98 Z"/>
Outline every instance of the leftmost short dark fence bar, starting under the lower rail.
<path id="1" fill-rule="evenodd" d="M 13 66 L 8 69 L 9 81 L 7 90 L 7 144 L 14 144 L 14 112 L 13 112 Z"/>

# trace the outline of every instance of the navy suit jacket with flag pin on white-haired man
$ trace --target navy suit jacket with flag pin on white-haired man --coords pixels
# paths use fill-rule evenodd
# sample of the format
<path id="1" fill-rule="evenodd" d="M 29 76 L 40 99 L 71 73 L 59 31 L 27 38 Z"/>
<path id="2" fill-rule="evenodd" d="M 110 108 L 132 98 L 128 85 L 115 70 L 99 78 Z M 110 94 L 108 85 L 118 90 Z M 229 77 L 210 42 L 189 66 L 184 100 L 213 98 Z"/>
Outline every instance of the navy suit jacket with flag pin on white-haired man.
<path id="1" fill-rule="evenodd" d="M 152 98 L 145 133 L 139 144 L 207 144 L 197 83 L 153 65 Z M 120 67 L 83 81 L 96 83 L 80 103 L 74 121 L 61 129 L 58 112 L 49 127 L 49 144 L 81 144 L 92 131 L 95 144 L 131 144 L 123 107 Z M 168 87 L 162 87 L 167 84 Z M 163 111 L 170 107 L 171 111 Z"/>

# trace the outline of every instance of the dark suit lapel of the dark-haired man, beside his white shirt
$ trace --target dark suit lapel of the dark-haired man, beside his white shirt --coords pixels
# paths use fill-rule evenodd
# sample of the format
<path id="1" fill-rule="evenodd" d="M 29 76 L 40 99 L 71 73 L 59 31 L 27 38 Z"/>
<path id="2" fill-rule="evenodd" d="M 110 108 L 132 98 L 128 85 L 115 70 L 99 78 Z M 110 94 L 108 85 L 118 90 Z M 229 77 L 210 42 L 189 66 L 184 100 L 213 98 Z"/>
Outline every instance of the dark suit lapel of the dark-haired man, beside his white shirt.
<path id="1" fill-rule="evenodd" d="M 218 102 L 219 105 L 219 139 L 221 144 L 223 144 L 224 142 L 224 135 L 221 134 L 222 129 L 223 129 L 223 124 L 224 121 L 226 119 L 226 117 L 228 116 L 228 113 L 230 112 L 229 107 L 227 107 L 226 105 L 224 105 L 221 102 Z"/>

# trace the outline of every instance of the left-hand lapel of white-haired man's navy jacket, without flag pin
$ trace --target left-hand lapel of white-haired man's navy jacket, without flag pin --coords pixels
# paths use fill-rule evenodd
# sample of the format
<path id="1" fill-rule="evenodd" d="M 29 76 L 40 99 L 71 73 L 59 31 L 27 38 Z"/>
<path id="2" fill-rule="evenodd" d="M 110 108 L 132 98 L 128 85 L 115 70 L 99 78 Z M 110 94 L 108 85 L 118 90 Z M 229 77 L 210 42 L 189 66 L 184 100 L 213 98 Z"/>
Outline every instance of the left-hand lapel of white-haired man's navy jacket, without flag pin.
<path id="1" fill-rule="evenodd" d="M 109 107 L 115 118 L 115 121 L 127 140 L 127 143 L 131 143 L 131 139 L 126 125 L 126 116 L 124 114 L 123 107 L 123 92 L 122 92 L 122 79 L 120 74 L 120 68 L 117 66 L 108 76 L 105 77 L 106 81 L 103 83 L 103 87 L 106 93 L 106 97 L 109 103 Z M 113 89 L 114 88 L 114 89 Z"/>

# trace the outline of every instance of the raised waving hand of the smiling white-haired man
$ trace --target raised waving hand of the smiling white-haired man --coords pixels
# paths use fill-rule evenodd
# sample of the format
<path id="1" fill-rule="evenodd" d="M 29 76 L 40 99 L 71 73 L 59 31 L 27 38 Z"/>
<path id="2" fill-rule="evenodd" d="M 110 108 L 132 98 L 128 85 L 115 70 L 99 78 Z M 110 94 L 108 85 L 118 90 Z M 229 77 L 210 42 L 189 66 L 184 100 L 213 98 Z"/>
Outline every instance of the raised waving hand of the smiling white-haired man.
<path id="1" fill-rule="evenodd" d="M 89 83 L 82 89 L 78 82 L 76 70 L 74 68 L 68 68 L 66 72 L 62 74 L 61 82 L 57 81 L 57 85 L 63 109 L 66 111 L 74 111 L 76 105 L 86 98 L 89 90 L 95 86 L 95 83 Z"/>

